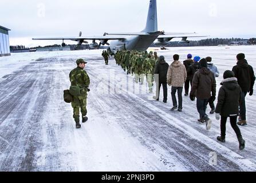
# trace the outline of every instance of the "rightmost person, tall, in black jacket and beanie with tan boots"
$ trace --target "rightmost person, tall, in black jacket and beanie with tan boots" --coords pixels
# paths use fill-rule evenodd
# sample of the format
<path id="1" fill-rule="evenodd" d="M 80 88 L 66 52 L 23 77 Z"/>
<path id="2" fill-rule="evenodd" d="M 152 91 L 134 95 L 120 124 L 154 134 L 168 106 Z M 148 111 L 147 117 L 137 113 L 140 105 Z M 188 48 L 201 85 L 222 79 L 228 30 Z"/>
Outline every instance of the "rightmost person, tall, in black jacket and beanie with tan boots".
<path id="1" fill-rule="evenodd" d="M 245 54 L 239 53 L 237 55 L 237 61 L 237 65 L 233 67 L 232 71 L 234 72 L 235 77 L 238 80 L 238 84 L 242 89 L 238 125 L 245 126 L 247 125 L 245 97 L 247 93 L 249 93 L 250 96 L 253 95 L 255 75 L 253 67 L 251 67 L 245 59 Z"/>

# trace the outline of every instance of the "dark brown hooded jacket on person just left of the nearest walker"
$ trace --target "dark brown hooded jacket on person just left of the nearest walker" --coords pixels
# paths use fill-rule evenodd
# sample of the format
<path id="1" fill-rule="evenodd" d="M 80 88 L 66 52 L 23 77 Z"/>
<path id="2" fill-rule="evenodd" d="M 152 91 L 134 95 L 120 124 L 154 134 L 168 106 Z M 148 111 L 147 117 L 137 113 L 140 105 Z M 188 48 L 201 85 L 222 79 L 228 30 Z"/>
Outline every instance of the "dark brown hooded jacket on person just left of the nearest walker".
<path id="1" fill-rule="evenodd" d="M 200 100 L 208 100 L 211 96 L 216 96 L 216 80 L 210 69 L 203 67 L 196 71 L 190 95 Z"/>

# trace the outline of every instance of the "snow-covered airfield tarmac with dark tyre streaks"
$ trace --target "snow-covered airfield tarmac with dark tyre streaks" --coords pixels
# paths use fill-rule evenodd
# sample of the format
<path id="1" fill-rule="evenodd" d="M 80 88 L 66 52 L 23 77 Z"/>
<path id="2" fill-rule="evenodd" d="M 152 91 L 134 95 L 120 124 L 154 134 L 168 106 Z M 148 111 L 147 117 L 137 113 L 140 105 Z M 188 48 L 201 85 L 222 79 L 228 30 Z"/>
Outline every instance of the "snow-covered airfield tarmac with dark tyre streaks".
<path id="1" fill-rule="evenodd" d="M 176 47 L 159 55 L 168 63 L 173 54 L 182 61 L 188 53 L 211 56 L 222 76 L 241 52 L 256 71 L 256 46 Z M 88 61 L 91 92 L 89 121 L 77 130 L 62 97 L 80 57 Z M 256 170 L 255 94 L 246 98 L 249 125 L 240 128 L 246 140 L 241 151 L 229 123 L 226 143 L 217 142 L 220 122 L 214 115 L 206 131 L 188 97 L 183 113 L 171 112 L 170 91 L 167 104 L 152 100 L 114 59 L 105 66 L 101 50 L 12 54 L 0 58 L 0 77 L 0 171 Z"/>

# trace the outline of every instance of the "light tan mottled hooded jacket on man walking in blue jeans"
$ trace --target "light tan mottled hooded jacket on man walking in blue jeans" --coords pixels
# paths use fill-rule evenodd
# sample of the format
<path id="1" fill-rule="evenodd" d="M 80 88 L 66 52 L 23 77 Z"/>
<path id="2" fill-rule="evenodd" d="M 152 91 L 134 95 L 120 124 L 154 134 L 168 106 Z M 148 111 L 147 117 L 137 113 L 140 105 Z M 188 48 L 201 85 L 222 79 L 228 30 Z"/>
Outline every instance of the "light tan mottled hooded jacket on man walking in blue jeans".
<path id="1" fill-rule="evenodd" d="M 180 63 L 180 61 L 174 61 L 169 66 L 167 73 L 167 83 L 168 85 L 175 87 L 183 87 L 184 82 L 186 82 L 187 71 L 186 67 Z"/>

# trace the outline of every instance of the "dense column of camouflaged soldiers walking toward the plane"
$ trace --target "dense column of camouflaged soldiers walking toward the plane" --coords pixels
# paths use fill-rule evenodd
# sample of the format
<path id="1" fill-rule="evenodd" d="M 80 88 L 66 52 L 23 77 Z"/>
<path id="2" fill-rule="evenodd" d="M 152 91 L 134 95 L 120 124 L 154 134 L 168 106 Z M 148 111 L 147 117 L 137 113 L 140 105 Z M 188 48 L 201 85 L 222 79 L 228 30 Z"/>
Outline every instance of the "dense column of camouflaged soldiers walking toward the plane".
<path id="1" fill-rule="evenodd" d="M 127 74 L 135 75 L 135 82 L 143 85 L 144 76 L 147 78 L 149 93 L 153 93 L 153 81 L 155 65 L 159 61 L 157 53 L 150 51 L 117 51 L 115 54 L 116 64 L 121 66 Z"/>

